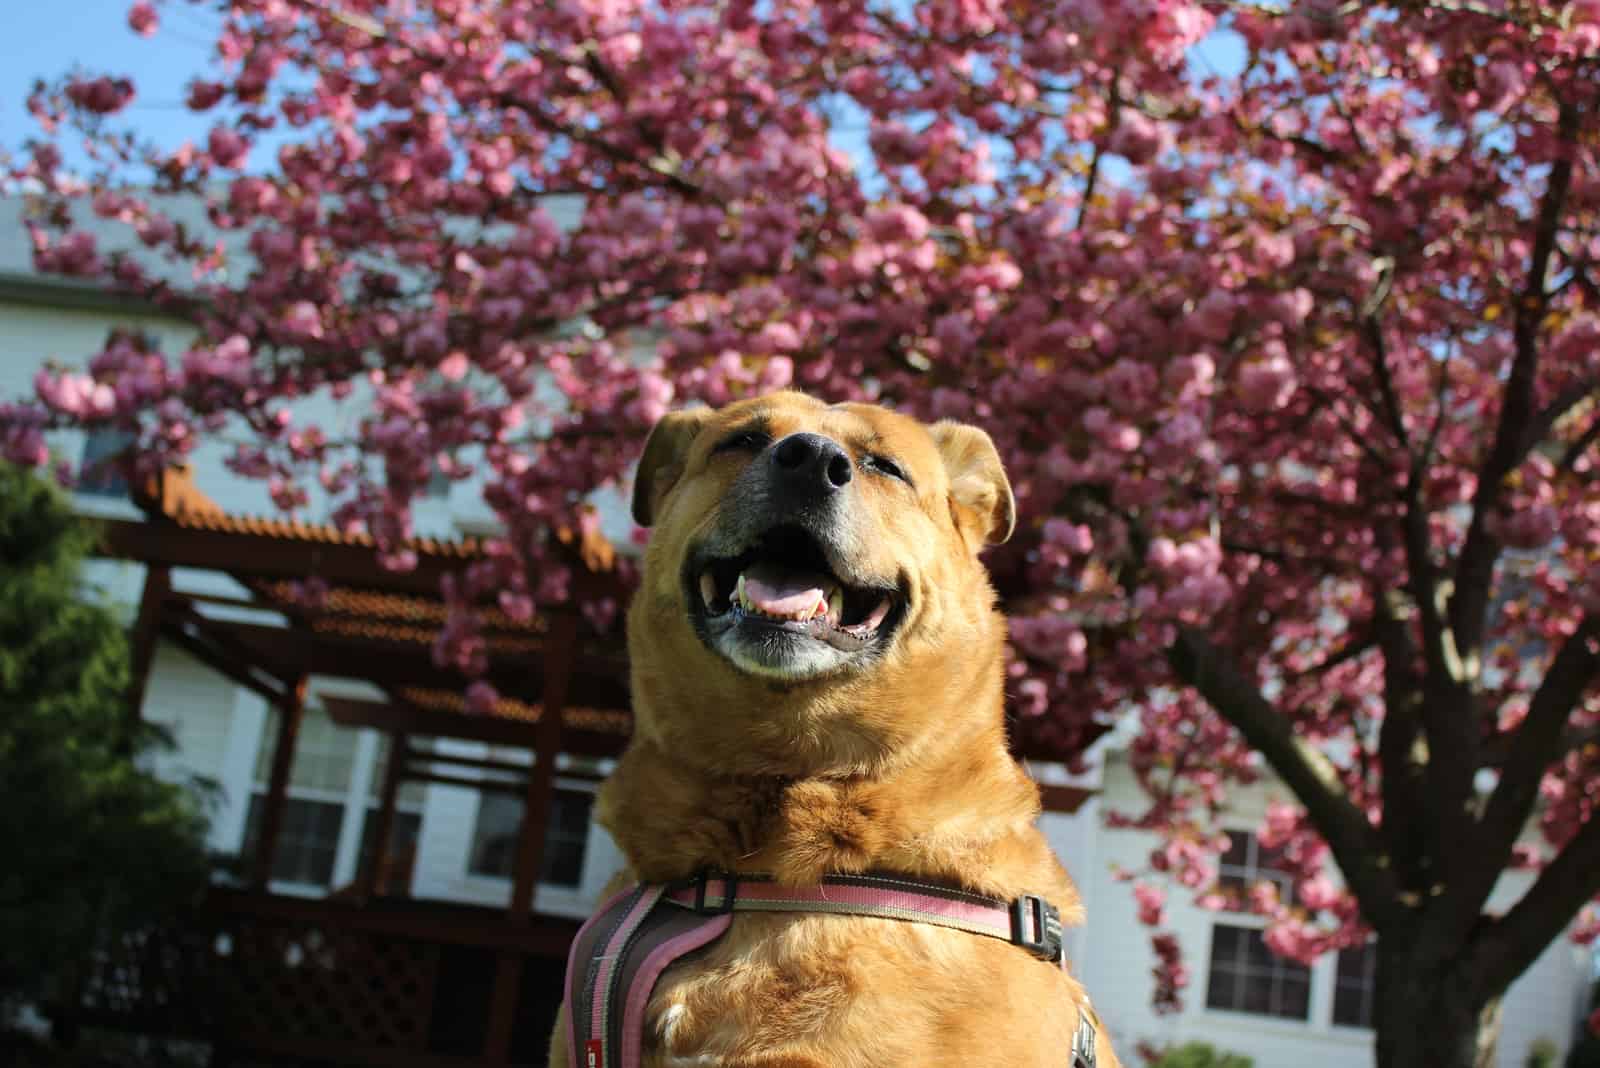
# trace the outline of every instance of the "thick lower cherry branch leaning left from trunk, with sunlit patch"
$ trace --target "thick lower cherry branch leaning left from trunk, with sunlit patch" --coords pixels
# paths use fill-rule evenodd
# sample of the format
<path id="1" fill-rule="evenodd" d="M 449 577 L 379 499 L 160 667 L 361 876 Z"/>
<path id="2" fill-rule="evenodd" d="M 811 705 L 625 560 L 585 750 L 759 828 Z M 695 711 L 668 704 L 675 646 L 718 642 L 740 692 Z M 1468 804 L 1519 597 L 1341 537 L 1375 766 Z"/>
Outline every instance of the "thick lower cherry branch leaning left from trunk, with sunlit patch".
<path id="1" fill-rule="evenodd" d="M 1366 921 L 1379 929 L 1397 923 L 1402 910 L 1394 871 L 1371 823 L 1350 803 L 1333 761 L 1296 737 L 1288 718 L 1200 632 L 1179 628 L 1166 659 L 1178 678 L 1194 686 L 1218 715 L 1234 724 L 1306 806 L 1360 900 Z"/>

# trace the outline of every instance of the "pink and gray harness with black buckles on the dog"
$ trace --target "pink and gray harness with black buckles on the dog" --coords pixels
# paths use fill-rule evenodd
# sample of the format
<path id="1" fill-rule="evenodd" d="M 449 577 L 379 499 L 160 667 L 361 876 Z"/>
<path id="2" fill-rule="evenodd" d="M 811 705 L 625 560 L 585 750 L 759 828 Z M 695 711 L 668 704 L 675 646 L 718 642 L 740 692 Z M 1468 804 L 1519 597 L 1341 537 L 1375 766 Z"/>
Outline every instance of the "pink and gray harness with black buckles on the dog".
<path id="1" fill-rule="evenodd" d="M 1061 913 L 1024 894 L 1011 902 L 890 875 L 830 875 L 779 886 L 766 875 L 704 873 L 622 891 L 584 924 L 566 958 L 571 1068 L 638 1068 L 645 1004 L 661 972 L 722 937 L 733 913 L 834 913 L 954 927 L 1066 966 Z M 1078 1009 L 1067 1068 L 1094 1068 L 1094 1025 Z"/>

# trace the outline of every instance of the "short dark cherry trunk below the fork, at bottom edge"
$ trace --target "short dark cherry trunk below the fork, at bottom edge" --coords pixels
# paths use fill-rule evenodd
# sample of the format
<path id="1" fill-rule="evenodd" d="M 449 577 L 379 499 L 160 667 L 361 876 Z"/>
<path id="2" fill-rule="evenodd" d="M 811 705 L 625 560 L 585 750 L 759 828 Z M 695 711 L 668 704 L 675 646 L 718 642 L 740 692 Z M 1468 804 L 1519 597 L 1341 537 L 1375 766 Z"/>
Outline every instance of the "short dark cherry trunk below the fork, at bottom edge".
<path id="1" fill-rule="evenodd" d="M 1464 954 L 1394 943 L 1390 935 L 1378 945 L 1378 1068 L 1494 1068 L 1499 993 L 1477 988 Z"/>

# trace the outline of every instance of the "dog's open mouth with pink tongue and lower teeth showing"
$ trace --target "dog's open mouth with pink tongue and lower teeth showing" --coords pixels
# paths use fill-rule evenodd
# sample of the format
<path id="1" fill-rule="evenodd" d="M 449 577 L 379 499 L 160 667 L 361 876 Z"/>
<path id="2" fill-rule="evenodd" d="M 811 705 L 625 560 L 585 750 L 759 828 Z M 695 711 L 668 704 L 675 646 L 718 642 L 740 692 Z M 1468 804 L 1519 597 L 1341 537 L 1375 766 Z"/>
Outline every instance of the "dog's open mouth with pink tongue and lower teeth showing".
<path id="1" fill-rule="evenodd" d="M 899 617 L 898 590 L 842 580 L 806 531 L 779 526 L 733 558 L 691 563 L 691 603 L 710 628 L 754 625 L 861 652 Z"/>

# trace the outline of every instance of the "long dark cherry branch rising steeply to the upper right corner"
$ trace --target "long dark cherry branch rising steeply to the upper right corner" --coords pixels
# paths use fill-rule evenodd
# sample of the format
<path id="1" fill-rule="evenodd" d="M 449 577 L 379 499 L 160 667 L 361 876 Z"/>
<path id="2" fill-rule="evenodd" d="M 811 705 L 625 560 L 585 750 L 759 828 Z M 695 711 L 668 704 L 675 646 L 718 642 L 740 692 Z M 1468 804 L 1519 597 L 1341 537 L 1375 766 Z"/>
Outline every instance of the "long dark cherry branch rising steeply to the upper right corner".
<path id="1" fill-rule="evenodd" d="M 1456 648 L 1462 656 L 1475 657 L 1483 643 L 1486 625 L 1490 587 L 1494 577 L 1494 561 L 1499 558 L 1499 539 L 1490 532 L 1490 518 L 1499 507 L 1501 489 L 1506 476 L 1536 444 L 1530 438 L 1528 424 L 1533 419 L 1534 381 L 1539 371 L 1539 326 L 1549 307 L 1549 293 L 1544 288 L 1546 275 L 1550 269 L 1550 256 L 1555 251 L 1555 237 L 1560 232 L 1562 213 L 1566 209 L 1566 193 L 1573 182 L 1573 153 L 1578 136 L 1578 109 L 1562 104 L 1557 122 L 1557 137 L 1565 150 L 1550 165 L 1550 176 L 1539 201 L 1539 219 L 1533 237 L 1533 257 L 1528 264 L 1528 280 L 1523 285 L 1522 297 L 1517 301 L 1517 321 L 1514 328 L 1515 357 L 1512 358 L 1510 376 L 1506 381 L 1506 393 L 1501 401 L 1499 424 L 1494 427 L 1494 440 L 1483 467 L 1478 470 L 1478 488 L 1472 497 L 1472 521 L 1467 526 L 1467 537 L 1461 547 L 1461 558 L 1456 561 L 1454 595 L 1450 603 L 1450 628 L 1456 636 Z"/>

